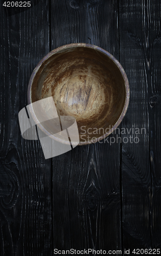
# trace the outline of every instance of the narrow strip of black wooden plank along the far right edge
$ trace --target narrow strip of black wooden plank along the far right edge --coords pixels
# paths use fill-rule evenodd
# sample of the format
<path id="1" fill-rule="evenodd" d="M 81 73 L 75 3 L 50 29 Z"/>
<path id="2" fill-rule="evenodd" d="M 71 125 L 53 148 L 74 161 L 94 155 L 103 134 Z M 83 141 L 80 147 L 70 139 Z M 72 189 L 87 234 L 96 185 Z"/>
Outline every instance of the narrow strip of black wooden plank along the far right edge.
<path id="1" fill-rule="evenodd" d="M 161 248 L 161 87 L 160 87 L 160 12 L 161 3 L 158 1 L 150 1 L 147 3 L 149 10 L 147 24 L 149 34 L 147 41 L 150 45 L 147 50 L 147 60 L 149 66 L 146 67 L 148 80 L 148 111 L 149 111 L 149 151 L 150 151 L 150 167 L 152 173 L 152 196 L 151 196 L 151 240 L 152 247 Z M 147 30 L 146 30 L 147 33 Z"/>

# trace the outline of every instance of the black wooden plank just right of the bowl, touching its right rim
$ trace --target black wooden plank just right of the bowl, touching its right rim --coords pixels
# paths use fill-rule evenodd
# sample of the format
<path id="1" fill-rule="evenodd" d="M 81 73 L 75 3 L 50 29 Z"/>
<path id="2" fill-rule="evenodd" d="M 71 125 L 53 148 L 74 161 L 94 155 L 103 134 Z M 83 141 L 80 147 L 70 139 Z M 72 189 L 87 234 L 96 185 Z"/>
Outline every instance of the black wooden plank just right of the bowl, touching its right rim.
<path id="1" fill-rule="evenodd" d="M 148 101 L 155 61 L 153 5 L 150 0 L 124 0 L 119 5 L 120 62 L 130 86 L 129 108 L 122 123 L 126 130 L 122 135 L 123 245 L 131 253 L 152 246 L 149 136 L 153 124 L 149 126 Z"/>

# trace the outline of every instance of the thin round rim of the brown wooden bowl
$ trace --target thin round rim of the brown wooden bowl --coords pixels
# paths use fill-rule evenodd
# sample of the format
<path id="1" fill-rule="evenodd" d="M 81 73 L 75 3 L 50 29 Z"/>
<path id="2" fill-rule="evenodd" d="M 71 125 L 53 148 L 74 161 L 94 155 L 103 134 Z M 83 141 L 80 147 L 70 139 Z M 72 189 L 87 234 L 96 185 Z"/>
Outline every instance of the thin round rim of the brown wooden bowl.
<path id="1" fill-rule="evenodd" d="M 128 79 L 127 79 L 127 76 L 126 76 L 126 73 L 123 69 L 123 67 L 121 66 L 120 62 L 111 54 L 109 53 L 108 51 L 98 47 L 98 46 L 95 46 L 95 45 L 91 45 L 91 44 L 85 44 L 85 43 L 82 43 L 82 42 L 78 42 L 78 43 L 73 43 L 73 44 L 68 44 L 68 45 L 64 45 L 64 46 L 60 46 L 52 51 L 50 51 L 49 53 L 47 53 L 37 64 L 37 66 L 35 67 L 35 69 L 33 70 L 32 72 L 32 75 L 30 77 L 30 80 L 29 80 L 29 85 L 28 85 L 28 104 L 31 104 L 32 103 L 32 83 L 33 83 L 33 80 L 34 80 L 34 77 L 37 73 L 37 71 L 39 70 L 39 68 L 41 67 L 42 63 L 48 59 L 51 55 L 55 54 L 56 52 L 58 51 L 61 51 L 63 49 L 67 49 L 67 48 L 72 48 L 72 47 L 87 47 L 87 48 L 91 48 L 91 49 L 94 49 L 94 50 L 97 50 L 103 54 L 105 54 L 106 56 L 108 56 L 109 58 L 112 59 L 112 61 L 115 63 L 115 65 L 118 67 L 119 71 L 121 72 L 122 76 L 123 76 L 123 79 L 124 79 L 124 85 L 125 85 L 125 91 L 126 91 L 126 99 L 125 99 L 125 103 L 124 103 L 124 107 L 123 107 L 123 110 L 122 110 L 122 113 L 120 115 L 120 117 L 118 118 L 117 122 L 112 126 L 112 128 L 106 132 L 105 134 L 103 134 L 102 136 L 96 138 L 96 139 L 91 139 L 89 141 L 79 141 L 78 145 L 87 145 L 87 144 L 91 144 L 91 143 L 96 143 L 97 141 L 100 141 L 102 139 L 104 139 L 105 137 L 109 136 L 118 126 L 119 124 L 121 123 L 122 119 L 124 118 L 125 114 L 126 114 L 126 111 L 127 111 L 127 108 L 128 108 L 128 104 L 129 104 L 129 95 L 130 95 L 130 92 L 129 92 L 129 83 L 128 83 Z M 33 109 L 32 109 L 33 110 Z M 36 121 L 36 123 L 38 122 L 38 119 L 34 113 L 34 110 L 32 111 L 32 117 L 33 119 Z M 69 144 L 69 142 L 67 141 L 63 141 L 62 139 L 59 139 L 57 137 L 55 137 L 54 135 L 51 135 L 49 132 L 47 132 L 44 127 L 41 125 L 41 123 L 38 124 L 38 126 L 40 127 L 40 129 L 47 135 L 47 136 L 50 136 L 50 138 L 52 139 L 55 139 L 61 143 L 64 143 L 64 144 Z M 102 143 L 102 142 L 101 142 Z M 77 142 L 72 142 L 72 145 L 76 144 L 77 145 Z"/>

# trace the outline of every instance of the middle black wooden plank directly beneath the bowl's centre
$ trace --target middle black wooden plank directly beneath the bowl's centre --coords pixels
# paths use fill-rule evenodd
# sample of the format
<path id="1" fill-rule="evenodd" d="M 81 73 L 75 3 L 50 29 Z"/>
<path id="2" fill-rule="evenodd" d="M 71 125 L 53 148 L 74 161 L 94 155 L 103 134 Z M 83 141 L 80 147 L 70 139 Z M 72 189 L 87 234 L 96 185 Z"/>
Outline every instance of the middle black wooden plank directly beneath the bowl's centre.
<path id="1" fill-rule="evenodd" d="M 86 42 L 119 58 L 117 1 L 56 0 L 51 13 L 51 49 Z M 53 158 L 53 248 L 121 249 L 119 163 L 108 142 Z"/>

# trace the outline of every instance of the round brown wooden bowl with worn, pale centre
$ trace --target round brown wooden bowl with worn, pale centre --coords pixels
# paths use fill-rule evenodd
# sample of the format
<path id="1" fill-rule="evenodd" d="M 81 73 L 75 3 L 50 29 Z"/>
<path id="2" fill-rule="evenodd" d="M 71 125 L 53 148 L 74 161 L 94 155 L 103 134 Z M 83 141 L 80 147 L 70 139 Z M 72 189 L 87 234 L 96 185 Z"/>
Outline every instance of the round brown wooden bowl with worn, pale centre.
<path id="1" fill-rule="evenodd" d="M 31 76 L 28 103 L 50 96 L 59 116 L 76 119 L 79 145 L 84 145 L 105 138 L 120 124 L 128 107 L 129 85 L 122 66 L 109 52 L 89 44 L 70 44 L 49 52 Z"/>

